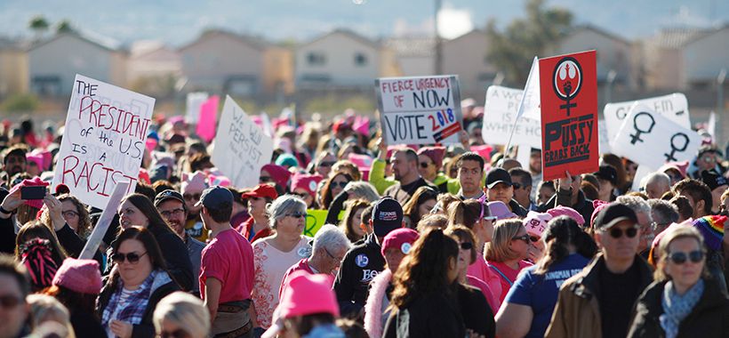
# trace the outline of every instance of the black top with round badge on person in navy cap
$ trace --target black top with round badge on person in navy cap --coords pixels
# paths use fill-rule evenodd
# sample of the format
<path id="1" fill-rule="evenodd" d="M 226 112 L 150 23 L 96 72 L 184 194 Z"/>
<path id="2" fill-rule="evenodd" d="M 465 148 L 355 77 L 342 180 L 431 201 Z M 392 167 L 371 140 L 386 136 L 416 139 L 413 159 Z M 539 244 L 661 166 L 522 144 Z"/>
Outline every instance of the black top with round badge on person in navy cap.
<path id="1" fill-rule="evenodd" d="M 370 234 L 363 244 L 353 246 L 344 255 L 334 280 L 342 317 L 356 316 L 365 306 L 370 281 L 385 270 L 385 258 L 380 250 L 375 235 Z"/>

